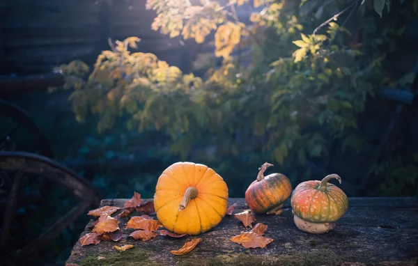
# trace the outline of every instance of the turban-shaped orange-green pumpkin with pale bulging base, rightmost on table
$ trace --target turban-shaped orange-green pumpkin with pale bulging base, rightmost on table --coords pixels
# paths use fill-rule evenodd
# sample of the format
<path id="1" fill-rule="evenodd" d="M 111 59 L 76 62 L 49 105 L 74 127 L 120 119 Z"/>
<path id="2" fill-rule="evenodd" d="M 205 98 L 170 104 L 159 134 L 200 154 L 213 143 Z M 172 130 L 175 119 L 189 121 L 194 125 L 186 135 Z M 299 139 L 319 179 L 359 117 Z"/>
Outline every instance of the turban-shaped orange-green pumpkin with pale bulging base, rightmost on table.
<path id="1" fill-rule="evenodd" d="M 308 233 L 327 233 L 348 210 L 347 195 L 336 185 L 328 183 L 339 175 L 325 176 L 322 181 L 302 182 L 291 198 L 293 219 L 297 228 Z"/>

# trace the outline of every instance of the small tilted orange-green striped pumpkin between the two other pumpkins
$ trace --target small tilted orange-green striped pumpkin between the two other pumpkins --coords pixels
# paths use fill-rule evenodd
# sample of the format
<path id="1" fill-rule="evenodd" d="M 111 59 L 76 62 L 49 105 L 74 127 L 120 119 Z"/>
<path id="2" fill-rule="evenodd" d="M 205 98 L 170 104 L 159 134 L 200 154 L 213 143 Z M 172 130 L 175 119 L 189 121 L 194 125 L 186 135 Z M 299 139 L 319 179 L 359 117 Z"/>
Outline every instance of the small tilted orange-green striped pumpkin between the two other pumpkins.
<path id="1" fill-rule="evenodd" d="M 264 171 L 273 166 L 265 162 L 259 168 L 257 179 L 245 191 L 248 207 L 259 214 L 281 214 L 284 202 L 291 196 L 291 181 L 281 173 L 264 176 Z"/>

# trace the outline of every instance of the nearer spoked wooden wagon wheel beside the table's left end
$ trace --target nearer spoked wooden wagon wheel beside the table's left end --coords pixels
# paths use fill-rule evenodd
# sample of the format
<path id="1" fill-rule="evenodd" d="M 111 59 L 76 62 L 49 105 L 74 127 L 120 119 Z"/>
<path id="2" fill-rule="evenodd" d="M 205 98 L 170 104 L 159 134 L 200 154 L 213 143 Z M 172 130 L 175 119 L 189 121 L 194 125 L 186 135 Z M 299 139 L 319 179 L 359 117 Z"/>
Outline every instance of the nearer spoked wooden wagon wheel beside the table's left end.
<path id="1" fill-rule="evenodd" d="M 98 191 L 86 180 L 65 166 L 61 166 L 41 155 L 35 155 L 29 152 L 2 151 L 0 152 L 0 170 L 15 172 L 6 211 L 3 214 L 0 237 L 0 257 L 8 258 L 7 261 L 10 265 L 24 263 L 25 260 L 31 258 L 31 255 L 42 249 L 47 241 L 59 235 L 65 227 L 75 221 L 81 214 L 84 214 L 89 206 L 97 206 L 100 203 Z M 56 185 L 64 187 L 78 198 L 79 203 L 70 212 L 58 219 L 55 224 L 45 230 L 45 232 L 22 247 L 18 253 L 15 253 L 8 247 L 8 241 L 13 224 L 13 215 L 17 208 L 17 195 L 20 192 L 22 180 L 26 173 L 41 175 L 47 178 L 47 180 L 56 183 Z"/>

